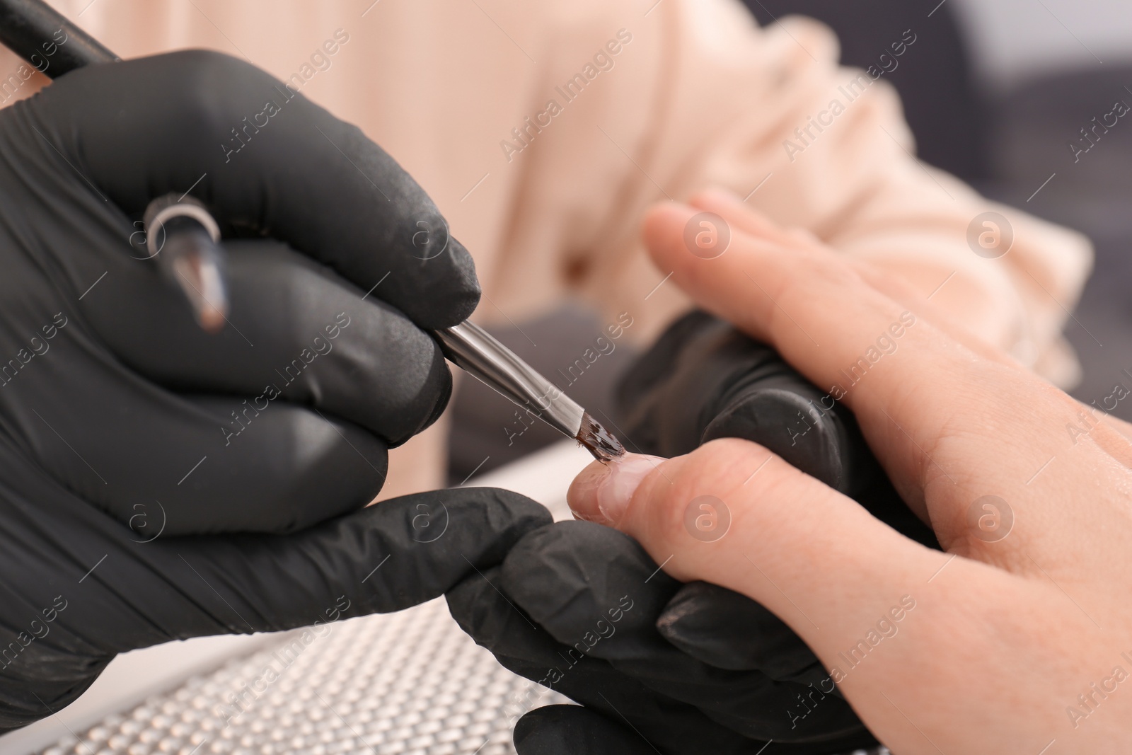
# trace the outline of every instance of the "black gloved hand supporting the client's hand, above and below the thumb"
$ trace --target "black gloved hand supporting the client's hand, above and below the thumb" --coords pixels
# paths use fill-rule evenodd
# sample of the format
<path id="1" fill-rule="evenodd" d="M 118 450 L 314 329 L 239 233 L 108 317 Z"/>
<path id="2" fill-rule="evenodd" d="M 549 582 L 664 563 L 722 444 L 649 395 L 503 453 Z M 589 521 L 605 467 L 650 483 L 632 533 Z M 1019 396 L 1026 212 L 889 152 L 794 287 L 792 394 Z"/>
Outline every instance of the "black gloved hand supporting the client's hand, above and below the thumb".
<path id="1" fill-rule="evenodd" d="M 727 323 L 703 312 L 678 320 L 629 369 L 618 396 L 626 418 L 619 429 L 632 451 L 675 456 L 720 437 L 754 440 L 894 529 L 938 547 L 893 490 L 848 410 Z M 449 593 L 453 615 L 477 642 L 540 681 L 566 652 L 558 643 L 578 642 L 593 617 L 603 616 L 601 607 L 623 595 L 644 607 L 632 632 L 623 627 L 619 638 L 584 650 L 584 664 L 575 668 L 586 674 L 550 685 L 585 709 L 542 709 L 518 722 L 521 755 L 654 747 L 756 753 L 771 740 L 767 754 L 817 754 L 875 744 L 818 659 L 778 617 L 730 590 L 681 586 L 658 569 L 632 539 L 591 524 L 524 538 L 494 578 L 557 643 L 524 636 L 531 626 L 483 592 L 482 581 Z"/>

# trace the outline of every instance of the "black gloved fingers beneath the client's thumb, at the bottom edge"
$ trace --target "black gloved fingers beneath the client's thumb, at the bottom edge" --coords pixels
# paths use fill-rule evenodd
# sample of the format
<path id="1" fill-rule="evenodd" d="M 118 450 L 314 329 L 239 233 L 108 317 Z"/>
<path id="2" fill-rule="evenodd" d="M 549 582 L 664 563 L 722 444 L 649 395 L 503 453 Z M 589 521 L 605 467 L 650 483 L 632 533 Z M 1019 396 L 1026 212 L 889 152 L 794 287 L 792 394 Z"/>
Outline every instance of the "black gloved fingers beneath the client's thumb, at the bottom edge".
<path id="1" fill-rule="evenodd" d="M 687 586 L 616 530 L 542 527 L 486 577 L 448 593 L 456 621 L 506 668 L 584 705 L 521 719 L 520 755 L 824 755 L 876 741 L 801 640 L 754 601 L 705 602 L 739 598 L 727 641 L 745 651 L 769 640 L 773 657 L 724 669 L 668 642 L 658 623 Z"/>

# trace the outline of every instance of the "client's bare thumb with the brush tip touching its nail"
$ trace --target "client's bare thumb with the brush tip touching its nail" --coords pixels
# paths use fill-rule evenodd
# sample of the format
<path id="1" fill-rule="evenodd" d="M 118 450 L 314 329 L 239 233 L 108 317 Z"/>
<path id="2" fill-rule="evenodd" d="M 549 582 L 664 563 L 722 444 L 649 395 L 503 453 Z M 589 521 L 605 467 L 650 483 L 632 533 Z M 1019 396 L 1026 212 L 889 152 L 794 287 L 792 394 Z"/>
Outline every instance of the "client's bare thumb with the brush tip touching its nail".
<path id="1" fill-rule="evenodd" d="M 910 576 L 926 580 L 947 559 L 747 440 L 651 461 L 591 464 L 571 486 L 571 508 L 632 535 L 681 582 L 754 598 L 815 651 L 811 640 L 854 626 L 877 595 L 899 598 Z"/>

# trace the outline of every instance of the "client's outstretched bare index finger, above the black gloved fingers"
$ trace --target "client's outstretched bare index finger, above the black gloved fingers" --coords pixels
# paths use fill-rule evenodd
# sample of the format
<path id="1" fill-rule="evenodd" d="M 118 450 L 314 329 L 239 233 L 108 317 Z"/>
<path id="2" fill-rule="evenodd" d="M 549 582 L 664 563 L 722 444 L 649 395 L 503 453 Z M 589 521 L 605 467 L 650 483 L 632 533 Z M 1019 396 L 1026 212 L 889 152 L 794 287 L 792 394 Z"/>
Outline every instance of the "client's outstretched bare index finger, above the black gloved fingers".
<path id="1" fill-rule="evenodd" d="M 755 235 L 731 228 L 718 257 L 689 254 L 685 229 L 696 214 L 675 204 L 649 214 L 645 239 L 658 265 L 701 306 L 774 345 L 834 398 L 857 407 L 881 397 L 891 413 L 938 377 L 910 368 L 900 351 L 921 352 L 938 366 L 972 362 L 974 354 L 871 286 L 847 260 L 787 246 L 777 230 Z"/>

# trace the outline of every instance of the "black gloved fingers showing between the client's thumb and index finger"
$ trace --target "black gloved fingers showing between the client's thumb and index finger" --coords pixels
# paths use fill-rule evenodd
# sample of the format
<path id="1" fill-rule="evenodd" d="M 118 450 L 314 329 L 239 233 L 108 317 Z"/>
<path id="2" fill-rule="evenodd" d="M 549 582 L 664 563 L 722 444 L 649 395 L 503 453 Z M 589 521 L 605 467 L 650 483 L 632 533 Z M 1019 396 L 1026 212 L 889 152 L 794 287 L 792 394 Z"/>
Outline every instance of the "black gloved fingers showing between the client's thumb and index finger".
<path id="1" fill-rule="evenodd" d="M 938 541 L 881 470 L 852 413 L 770 346 L 702 311 L 685 315 L 621 377 L 626 447 L 679 456 L 744 438 L 843 492 L 929 548 Z"/>

